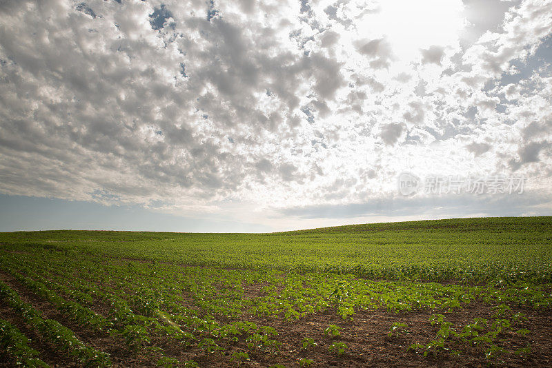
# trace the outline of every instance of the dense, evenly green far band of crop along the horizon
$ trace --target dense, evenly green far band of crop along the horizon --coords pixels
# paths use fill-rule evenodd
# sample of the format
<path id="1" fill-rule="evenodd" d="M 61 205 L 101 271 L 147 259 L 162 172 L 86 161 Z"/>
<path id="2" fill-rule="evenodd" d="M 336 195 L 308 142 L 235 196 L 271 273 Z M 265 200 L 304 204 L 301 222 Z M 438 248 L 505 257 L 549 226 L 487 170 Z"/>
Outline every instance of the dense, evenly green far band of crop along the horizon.
<path id="1" fill-rule="evenodd" d="M 552 217 L 457 218 L 272 234 L 1 233 L 6 249 L 52 249 L 189 265 L 351 272 L 374 278 L 552 276 Z M 528 276 L 529 275 L 529 276 Z"/>

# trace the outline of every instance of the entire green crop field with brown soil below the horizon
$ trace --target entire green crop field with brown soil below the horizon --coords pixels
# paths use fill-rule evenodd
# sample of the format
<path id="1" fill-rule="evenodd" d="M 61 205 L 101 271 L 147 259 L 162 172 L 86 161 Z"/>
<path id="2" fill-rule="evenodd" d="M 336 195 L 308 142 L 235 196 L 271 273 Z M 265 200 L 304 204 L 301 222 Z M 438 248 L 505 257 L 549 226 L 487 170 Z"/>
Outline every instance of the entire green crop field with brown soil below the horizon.
<path id="1" fill-rule="evenodd" d="M 0 233 L 1 367 L 552 365 L 552 217 Z"/>

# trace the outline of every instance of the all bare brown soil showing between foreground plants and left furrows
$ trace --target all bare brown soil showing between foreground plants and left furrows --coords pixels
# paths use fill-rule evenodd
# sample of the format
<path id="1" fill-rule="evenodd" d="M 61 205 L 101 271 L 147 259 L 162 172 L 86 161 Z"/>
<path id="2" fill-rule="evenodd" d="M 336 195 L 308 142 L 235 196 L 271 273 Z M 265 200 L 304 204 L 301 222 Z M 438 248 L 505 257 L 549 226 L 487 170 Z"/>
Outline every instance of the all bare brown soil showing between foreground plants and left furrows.
<path id="1" fill-rule="evenodd" d="M 21 298 L 31 303 L 41 311 L 45 318 L 52 318 L 72 329 L 77 337 L 89 346 L 108 352 L 115 367 L 155 367 L 158 353 L 147 350 L 134 352 L 129 349 L 124 340 L 108 334 L 98 334 L 89 329 L 75 325 L 48 302 L 38 298 L 16 280 L 6 274 L 0 274 L 0 279 L 8 283 Z M 263 294 L 264 285 L 246 285 L 246 298 L 255 298 Z M 105 306 L 98 309 L 102 314 Z M 96 309 L 96 307 L 95 307 Z M 195 307 L 195 309 L 198 309 Z M 428 322 L 431 312 L 415 311 L 409 313 L 395 313 L 384 310 L 356 310 L 354 320 L 344 320 L 336 314 L 335 309 L 328 309 L 317 314 L 306 315 L 299 320 L 288 322 L 281 318 L 262 318 L 259 316 L 242 316 L 241 320 L 250 320 L 257 326 L 274 327 L 278 336 L 275 338 L 282 343 L 279 351 L 252 351 L 245 343 L 246 335 L 239 338 L 239 342 L 230 343 L 228 340 L 217 340 L 222 352 L 206 354 L 197 347 L 186 347 L 175 340 L 167 340 L 161 336 L 153 339 L 152 344 L 162 347 L 168 356 L 178 358 L 181 362 L 193 359 L 200 367 L 238 367 L 232 361 L 232 354 L 247 352 L 250 361 L 244 362 L 241 367 L 270 367 L 280 364 L 285 367 L 299 367 L 301 358 L 313 360 L 311 367 L 551 367 L 552 366 L 552 311 L 535 309 L 515 309 L 514 312 L 524 313 L 528 320 L 515 325 L 514 330 L 526 328 L 531 330 L 525 337 L 508 331 L 500 335 L 500 346 L 508 351 L 515 351 L 519 347 L 531 345 L 529 357 L 522 358 L 512 353 L 506 353 L 495 360 L 486 360 L 480 347 L 472 347 L 468 343 L 452 340 L 447 345 L 452 350 L 461 351 L 460 356 L 442 353 L 438 356 L 424 357 L 407 351 L 413 343 L 426 344 L 435 337 L 438 327 Z M 442 313 L 442 312 L 441 312 Z M 443 313 L 444 314 L 444 313 Z M 472 302 L 462 309 L 455 309 L 445 314 L 445 320 L 460 327 L 473 322 L 477 317 L 491 320 L 491 307 L 483 302 Z M 57 351 L 46 342 L 41 341 L 36 332 L 27 326 L 21 318 L 0 300 L 0 316 L 16 325 L 23 334 L 32 339 L 31 346 L 41 352 L 40 358 L 52 367 L 78 367 L 66 354 Z M 221 318 L 221 323 L 227 318 Z M 406 323 L 408 328 L 398 337 L 388 337 L 387 333 L 393 323 Z M 342 327 L 341 336 L 331 338 L 324 334 L 328 325 Z M 203 338 L 197 334 L 197 338 Z M 302 339 L 313 338 L 317 346 L 302 349 Z M 346 343 L 344 354 L 328 351 L 333 340 Z M 455 342 L 456 341 L 456 342 Z M 0 351 L 1 353 L 1 351 Z M 0 367 L 12 367 L 6 354 L 0 354 Z"/>

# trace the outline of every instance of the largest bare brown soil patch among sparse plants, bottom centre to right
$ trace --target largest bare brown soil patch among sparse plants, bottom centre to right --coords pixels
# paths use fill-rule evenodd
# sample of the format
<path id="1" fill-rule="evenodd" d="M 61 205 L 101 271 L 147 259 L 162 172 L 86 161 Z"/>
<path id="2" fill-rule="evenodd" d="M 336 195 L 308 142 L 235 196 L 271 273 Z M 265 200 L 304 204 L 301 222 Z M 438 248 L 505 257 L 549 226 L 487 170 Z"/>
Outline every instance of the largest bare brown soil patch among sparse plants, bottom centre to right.
<path id="1" fill-rule="evenodd" d="M 550 367 L 552 363 L 552 314 L 550 311 L 536 312 L 532 309 L 522 310 L 529 318 L 526 323 L 517 325 L 516 330 L 527 328 L 531 334 L 522 337 L 512 333 L 500 335 L 504 341 L 501 345 L 509 351 L 531 344 L 532 352 L 529 358 L 520 358 L 515 354 L 503 354 L 497 360 L 485 360 L 481 348 L 471 347 L 466 343 L 452 343 L 449 348 L 462 351 L 460 356 L 440 354 L 424 357 L 407 351 L 413 343 L 428 343 L 437 332 L 436 326 L 428 322 L 431 313 L 418 311 L 397 314 L 389 311 L 357 311 L 353 321 L 343 320 L 337 316 L 335 309 L 319 314 L 307 315 L 294 322 L 275 320 L 272 318 L 255 318 L 250 316 L 257 325 L 275 327 L 282 342 L 279 354 L 251 354 L 241 342 L 232 347 L 228 345 L 226 355 L 213 355 L 209 358 L 199 356 L 195 360 L 201 367 L 228 367 L 231 354 L 235 351 L 246 351 L 254 362 L 244 362 L 243 367 L 269 367 L 282 364 L 285 367 L 299 367 L 299 359 L 313 360 L 311 367 L 486 367 L 489 365 L 508 367 Z M 445 319 L 453 325 L 466 325 L 474 318 L 491 319 L 492 313 L 488 306 L 481 303 L 466 305 Z M 407 333 L 399 337 L 388 337 L 387 333 L 393 323 L 406 323 Z M 341 336 L 331 338 L 324 334 L 328 325 L 342 327 Z M 313 338 L 316 347 L 302 349 L 303 338 Z M 333 340 L 344 342 L 346 352 L 342 355 L 328 351 Z M 241 341 L 241 340 L 240 340 Z M 235 364 L 237 366 L 237 364 Z"/>

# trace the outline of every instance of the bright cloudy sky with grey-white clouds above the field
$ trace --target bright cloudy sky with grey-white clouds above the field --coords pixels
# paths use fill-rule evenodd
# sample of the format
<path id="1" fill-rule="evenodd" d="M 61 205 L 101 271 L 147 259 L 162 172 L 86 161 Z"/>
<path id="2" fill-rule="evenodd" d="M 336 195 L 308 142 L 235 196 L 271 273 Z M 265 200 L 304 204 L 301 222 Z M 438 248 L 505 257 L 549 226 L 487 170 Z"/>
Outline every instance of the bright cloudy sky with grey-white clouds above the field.
<path id="1" fill-rule="evenodd" d="M 552 0 L 0 0 L 3 231 L 549 215 L 551 143 Z"/>

